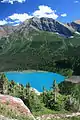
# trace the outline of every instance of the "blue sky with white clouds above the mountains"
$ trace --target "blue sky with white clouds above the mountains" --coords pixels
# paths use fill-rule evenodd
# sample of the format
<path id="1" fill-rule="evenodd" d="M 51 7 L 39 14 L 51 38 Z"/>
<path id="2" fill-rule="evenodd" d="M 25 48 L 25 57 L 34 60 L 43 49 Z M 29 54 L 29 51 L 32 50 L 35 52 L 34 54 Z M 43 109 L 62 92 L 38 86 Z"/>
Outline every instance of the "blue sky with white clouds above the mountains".
<path id="1" fill-rule="evenodd" d="M 48 17 L 66 23 L 80 20 L 80 0 L 0 0 L 0 25 Z"/>

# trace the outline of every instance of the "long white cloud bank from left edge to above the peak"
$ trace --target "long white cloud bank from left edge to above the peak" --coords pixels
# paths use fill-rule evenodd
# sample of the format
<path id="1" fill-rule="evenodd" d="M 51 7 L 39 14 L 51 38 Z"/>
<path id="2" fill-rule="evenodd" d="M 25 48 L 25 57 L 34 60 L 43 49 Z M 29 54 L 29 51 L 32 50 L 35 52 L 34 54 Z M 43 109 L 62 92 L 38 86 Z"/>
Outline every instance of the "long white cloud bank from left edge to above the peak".
<path id="1" fill-rule="evenodd" d="M 50 7 L 44 6 L 44 5 L 40 5 L 38 8 L 39 8 L 38 10 L 34 11 L 31 14 L 14 13 L 11 16 L 8 16 L 4 20 L 2 20 L 0 24 L 2 24 L 2 25 L 4 25 L 4 24 L 19 25 L 20 23 L 24 22 L 26 19 L 30 19 L 33 16 L 39 17 L 39 18 L 41 18 L 41 17 L 48 17 L 48 18 L 53 18 L 53 19 L 58 18 L 58 15 L 56 14 L 56 10 L 52 10 Z"/>

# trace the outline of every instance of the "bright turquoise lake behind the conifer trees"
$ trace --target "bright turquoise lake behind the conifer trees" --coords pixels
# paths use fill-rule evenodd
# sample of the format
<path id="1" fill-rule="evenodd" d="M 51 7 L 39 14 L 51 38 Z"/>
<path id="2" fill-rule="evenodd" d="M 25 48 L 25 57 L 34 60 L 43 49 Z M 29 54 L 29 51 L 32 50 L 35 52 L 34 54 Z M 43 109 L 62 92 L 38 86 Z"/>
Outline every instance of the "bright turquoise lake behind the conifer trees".
<path id="1" fill-rule="evenodd" d="M 23 85 L 29 82 L 31 87 L 36 88 L 39 92 L 42 92 L 43 86 L 49 90 L 54 79 L 57 83 L 65 79 L 64 76 L 52 72 L 6 72 L 5 75 L 9 80 Z"/>

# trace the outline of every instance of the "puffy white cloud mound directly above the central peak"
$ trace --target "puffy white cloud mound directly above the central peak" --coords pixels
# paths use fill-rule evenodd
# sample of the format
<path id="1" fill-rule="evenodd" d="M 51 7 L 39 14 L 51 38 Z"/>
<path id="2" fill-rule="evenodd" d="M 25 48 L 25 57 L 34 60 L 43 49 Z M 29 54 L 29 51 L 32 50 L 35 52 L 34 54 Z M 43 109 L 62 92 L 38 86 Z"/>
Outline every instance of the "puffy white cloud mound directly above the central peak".
<path id="1" fill-rule="evenodd" d="M 58 15 L 55 13 L 56 11 L 52 10 L 51 7 L 40 5 L 38 8 L 39 9 L 33 13 L 33 16 L 36 16 L 39 18 L 40 17 L 48 17 L 53 19 L 58 18 Z"/>

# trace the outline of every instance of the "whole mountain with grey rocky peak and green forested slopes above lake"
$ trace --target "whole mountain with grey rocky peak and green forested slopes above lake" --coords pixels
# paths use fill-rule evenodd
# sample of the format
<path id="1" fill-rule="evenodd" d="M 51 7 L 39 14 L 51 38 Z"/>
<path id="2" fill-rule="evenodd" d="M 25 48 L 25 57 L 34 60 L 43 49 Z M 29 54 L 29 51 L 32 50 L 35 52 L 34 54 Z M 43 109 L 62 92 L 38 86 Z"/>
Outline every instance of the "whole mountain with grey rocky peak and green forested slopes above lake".
<path id="1" fill-rule="evenodd" d="M 17 27 L 2 26 L 7 37 L 1 34 L 0 71 L 74 69 L 73 59 L 80 55 L 77 26 L 79 29 L 77 23 L 73 27 L 72 23 L 35 17 Z"/>

